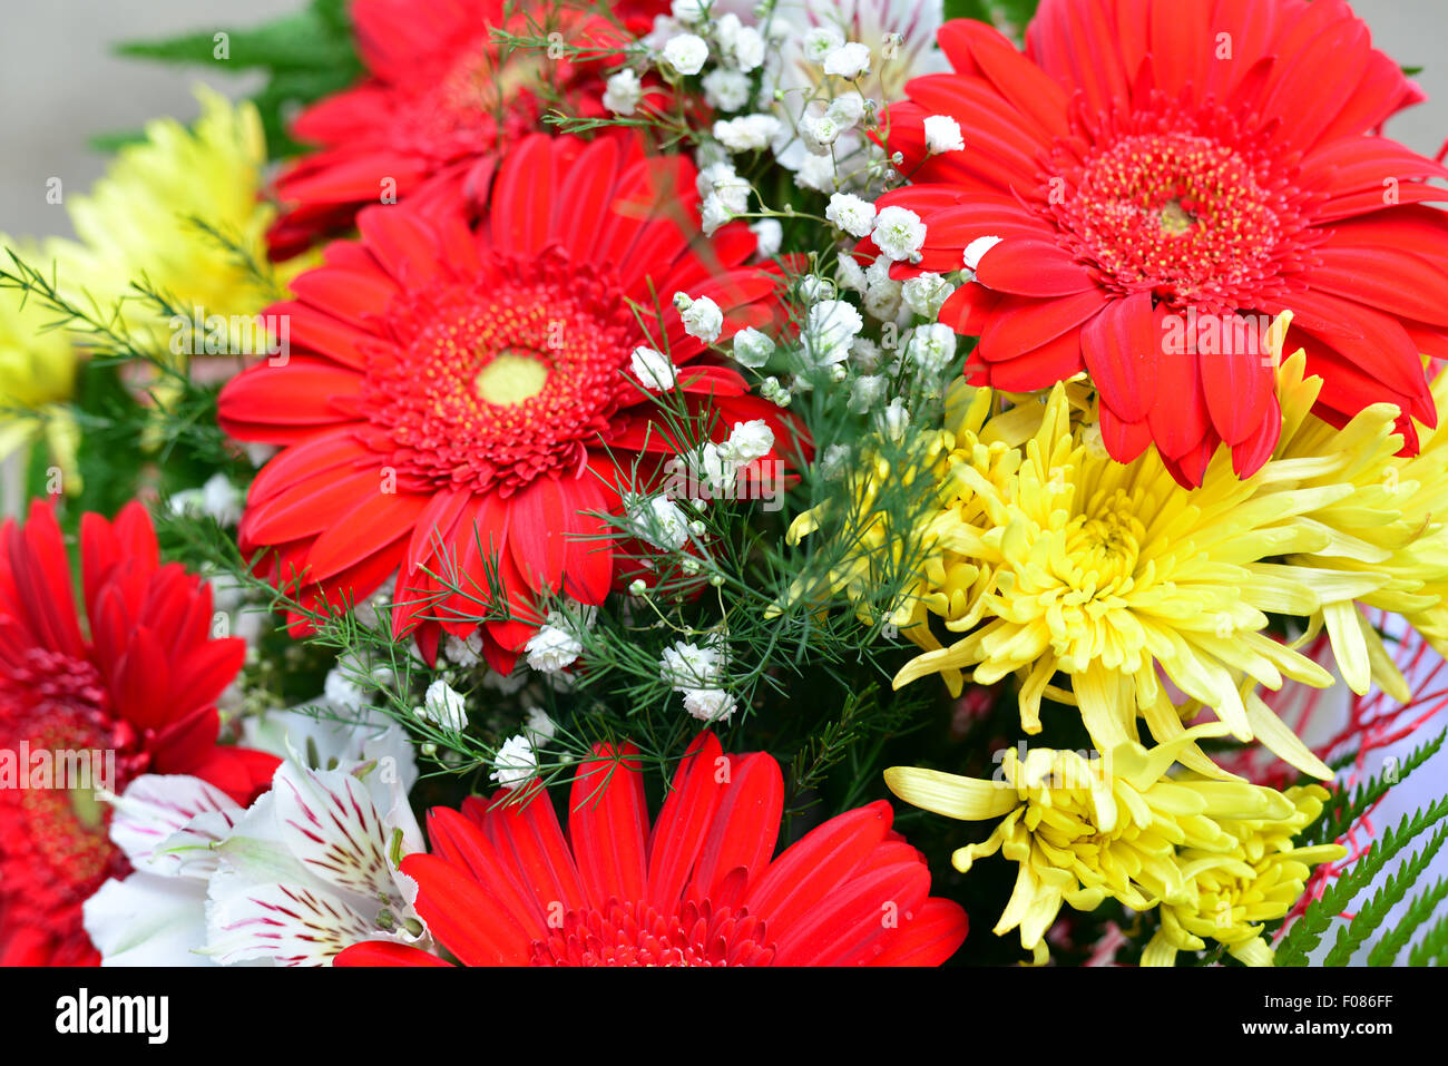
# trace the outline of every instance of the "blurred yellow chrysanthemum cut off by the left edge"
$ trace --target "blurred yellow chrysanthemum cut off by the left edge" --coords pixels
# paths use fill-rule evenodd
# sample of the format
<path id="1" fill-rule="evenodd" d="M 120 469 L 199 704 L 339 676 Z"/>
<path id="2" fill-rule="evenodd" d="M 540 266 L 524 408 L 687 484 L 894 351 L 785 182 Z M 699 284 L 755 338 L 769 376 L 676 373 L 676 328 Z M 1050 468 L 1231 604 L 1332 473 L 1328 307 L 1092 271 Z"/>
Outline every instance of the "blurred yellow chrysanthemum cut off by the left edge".
<path id="1" fill-rule="evenodd" d="M 7 269 L 12 264 L 6 249 L 28 264 L 36 261 L 35 249 L 0 233 Z M 75 388 L 75 348 L 65 330 L 45 330 L 54 319 L 36 298 L 25 300 L 23 293 L 9 287 L 0 290 L 0 461 L 45 440 L 67 479 L 72 479 L 78 433 L 64 404 Z"/>

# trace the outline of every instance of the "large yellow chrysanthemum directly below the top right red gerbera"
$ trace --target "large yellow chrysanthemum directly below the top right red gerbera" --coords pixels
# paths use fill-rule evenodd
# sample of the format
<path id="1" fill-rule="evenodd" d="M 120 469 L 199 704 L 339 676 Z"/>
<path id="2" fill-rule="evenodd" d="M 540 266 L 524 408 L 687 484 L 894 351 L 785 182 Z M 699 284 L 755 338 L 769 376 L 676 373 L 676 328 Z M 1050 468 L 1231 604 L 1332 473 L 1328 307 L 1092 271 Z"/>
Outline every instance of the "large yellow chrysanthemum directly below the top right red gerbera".
<path id="1" fill-rule="evenodd" d="M 1267 616 L 1310 617 L 1381 579 L 1268 561 L 1328 547 L 1331 533 L 1302 516 L 1350 497 L 1352 485 L 1297 487 L 1273 462 L 1242 481 L 1224 450 L 1205 487 L 1184 490 L 1154 452 L 1112 461 L 1096 427 L 1072 411 L 1067 385 L 996 413 L 989 391 L 957 382 L 943 437 L 950 450 L 930 468 L 946 503 L 898 533 L 919 542 L 925 561 L 895 620 L 927 650 L 896 687 L 941 673 L 959 692 L 967 673 L 982 685 L 1015 673 L 1027 733 L 1040 731 L 1041 698 L 1051 695 L 1076 702 L 1096 746 L 1109 750 L 1138 737 L 1138 714 L 1160 742 L 1182 733 L 1160 669 L 1195 701 L 1192 713 L 1211 707 L 1239 740 L 1260 739 L 1305 772 L 1331 776 L 1266 704 L 1244 698 L 1244 679 L 1274 689 L 1284 678 L 1331 684 L 1328 671 L 1266 631 Z M 1352 442 L 1325 448 L 1331 456 Z M 818 520 L 804 516 L 791 534 Z M 837 588 L 869 584 L 879 549 L 862 545 L 850 584 Z M 964 636 L 943 646 L 933 617 Z M 1054 684 L 1057 673 L 1069 689 Z M 1221 776 L 1195 746 L 1183 762 Z"/>

